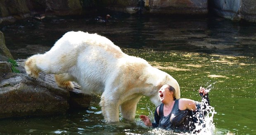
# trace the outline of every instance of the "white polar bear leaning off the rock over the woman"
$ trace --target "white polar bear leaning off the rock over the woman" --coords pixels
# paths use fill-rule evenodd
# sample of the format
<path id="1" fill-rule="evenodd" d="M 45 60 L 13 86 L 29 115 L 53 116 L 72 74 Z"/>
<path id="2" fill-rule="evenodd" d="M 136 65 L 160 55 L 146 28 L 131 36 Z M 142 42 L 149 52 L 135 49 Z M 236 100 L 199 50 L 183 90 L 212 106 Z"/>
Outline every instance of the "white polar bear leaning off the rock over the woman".
<path id="1" fill-rule="evenodd" d="M 100 106 L 107 123 L 119 121 L 119 109 L 124 119 L 133 121 L 143 95 L 160 105 L 158 90 L 164 84 L 173 86 L 180 98 L 179 84 L 171 75 L 142 58 L 124 54 L 96 33 L 66 33 L 50 51 L 28 58 L 25 69 L 35 79 L 41 71 L 55 74 L 56 83 L 63 88 L 72 89 L 71 81 L 76 81 L 87 93 L 102 93 Z"/>

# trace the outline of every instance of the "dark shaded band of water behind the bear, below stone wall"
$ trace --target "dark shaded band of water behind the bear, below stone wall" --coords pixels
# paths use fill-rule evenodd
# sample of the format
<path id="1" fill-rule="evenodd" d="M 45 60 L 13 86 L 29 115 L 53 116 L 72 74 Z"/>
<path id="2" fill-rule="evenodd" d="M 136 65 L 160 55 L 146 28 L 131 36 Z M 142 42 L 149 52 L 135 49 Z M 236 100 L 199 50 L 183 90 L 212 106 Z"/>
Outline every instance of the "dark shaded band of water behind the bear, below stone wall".
<path id="1" fill-rule="evenodd" d="M 217 17 L 131 16 L 114 14 L 107 23 L 95 17 L 46 17 L 1 26 L 14 58 L 48 51 L 64 33 L 85 31 L 106 36 L 121 48 L 177 50 L 255 56 L 256 25 Z"/>

